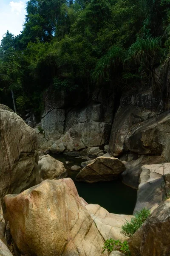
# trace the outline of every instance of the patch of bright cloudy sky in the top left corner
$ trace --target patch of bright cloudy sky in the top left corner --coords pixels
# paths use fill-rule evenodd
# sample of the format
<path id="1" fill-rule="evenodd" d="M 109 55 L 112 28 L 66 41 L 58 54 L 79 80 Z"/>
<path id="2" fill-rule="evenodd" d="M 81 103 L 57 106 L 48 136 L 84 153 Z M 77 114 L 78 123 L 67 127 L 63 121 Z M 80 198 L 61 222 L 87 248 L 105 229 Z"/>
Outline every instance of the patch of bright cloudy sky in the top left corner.
<path id="1" fill-rule="evenodd" d="M 8 30 L 19 35 L 23 29 L 28 0 L 0 0 L 0 40 Z"/>

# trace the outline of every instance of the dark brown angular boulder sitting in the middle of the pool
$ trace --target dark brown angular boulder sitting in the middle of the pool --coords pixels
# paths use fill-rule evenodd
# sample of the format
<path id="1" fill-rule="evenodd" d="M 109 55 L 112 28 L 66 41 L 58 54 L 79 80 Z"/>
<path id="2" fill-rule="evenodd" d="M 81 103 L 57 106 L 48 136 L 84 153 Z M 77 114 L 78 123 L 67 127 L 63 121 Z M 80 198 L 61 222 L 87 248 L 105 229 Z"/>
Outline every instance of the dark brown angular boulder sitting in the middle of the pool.
<path id="1" fill-rule="evenodd" d="M 97 157 L 76 176 L 77 181 L 98 182 L 114 180 L 125 171 L 125 165 L 114 157 Z"/>

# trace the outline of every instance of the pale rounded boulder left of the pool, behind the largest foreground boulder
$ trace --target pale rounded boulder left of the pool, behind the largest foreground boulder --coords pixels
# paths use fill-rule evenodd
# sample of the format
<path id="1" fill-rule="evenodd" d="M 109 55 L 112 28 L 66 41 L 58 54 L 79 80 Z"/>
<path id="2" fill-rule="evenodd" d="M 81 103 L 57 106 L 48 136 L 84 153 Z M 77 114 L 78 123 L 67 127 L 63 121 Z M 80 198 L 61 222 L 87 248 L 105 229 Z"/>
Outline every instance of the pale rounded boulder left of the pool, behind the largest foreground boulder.
<path id="1" fill-rule="evenodd" d="M 67 176 L 64 164 L 48 154 L 40 157 L 38 165 L 42 180 L 59 179 Z"/>

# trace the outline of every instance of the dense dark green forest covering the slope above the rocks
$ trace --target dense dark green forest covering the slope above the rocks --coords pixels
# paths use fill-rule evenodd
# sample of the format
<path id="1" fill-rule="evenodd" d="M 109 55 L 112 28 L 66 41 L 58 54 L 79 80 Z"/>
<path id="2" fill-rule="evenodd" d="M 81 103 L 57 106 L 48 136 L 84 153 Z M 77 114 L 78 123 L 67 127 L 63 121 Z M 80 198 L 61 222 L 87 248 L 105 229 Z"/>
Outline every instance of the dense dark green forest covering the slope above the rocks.
<path id="1" fill-rule="evenodd" d="M 153 84 L 170 61 L 170 0 L 29 0 L 0 44 L 0 102 L 40 113 L 43 92 Z"/>

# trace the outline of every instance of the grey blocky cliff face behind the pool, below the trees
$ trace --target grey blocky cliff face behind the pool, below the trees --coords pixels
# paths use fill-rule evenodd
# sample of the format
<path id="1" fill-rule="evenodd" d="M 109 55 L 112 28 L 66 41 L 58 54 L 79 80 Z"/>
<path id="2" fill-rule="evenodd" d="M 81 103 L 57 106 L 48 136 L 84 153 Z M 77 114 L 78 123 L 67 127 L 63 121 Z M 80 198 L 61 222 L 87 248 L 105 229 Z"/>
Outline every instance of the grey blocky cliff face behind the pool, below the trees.
<path id="1" fill-rule="evenodd" d="M 68 99 L 64 93 L 51 96 L 50 90 L 45 94 L 45 111 L 41 119 L 44 135 L 38 134 L 42 150 L 85 151 L 108 143 L 113 119 L 113 92 L 96 90 L 86 105 L 81 104 L 81 95 L 74 98 L 74 94 Z"/>

